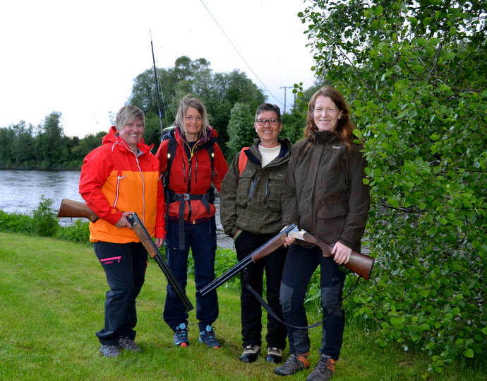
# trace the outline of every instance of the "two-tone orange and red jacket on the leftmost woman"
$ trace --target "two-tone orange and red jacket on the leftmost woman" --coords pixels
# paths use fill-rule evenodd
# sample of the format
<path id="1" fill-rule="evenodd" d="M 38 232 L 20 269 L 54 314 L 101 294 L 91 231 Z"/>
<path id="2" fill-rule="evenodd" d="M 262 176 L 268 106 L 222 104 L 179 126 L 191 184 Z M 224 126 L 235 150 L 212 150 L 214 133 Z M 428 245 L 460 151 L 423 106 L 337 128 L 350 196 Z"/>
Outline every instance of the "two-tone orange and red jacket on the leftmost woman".
<path id="1" fill-rule="evenodd" d="M 79 192 L 99 220 L 90 223 L 90 241 L 140 242 L 129 228 L 116 228 L 124 211 L 136 212 L 153 237 L 164 238 L 164 192 L 159 161 L 143 141 L 133 153 L 112 127 L 102 146 L 85 156 Z"/>

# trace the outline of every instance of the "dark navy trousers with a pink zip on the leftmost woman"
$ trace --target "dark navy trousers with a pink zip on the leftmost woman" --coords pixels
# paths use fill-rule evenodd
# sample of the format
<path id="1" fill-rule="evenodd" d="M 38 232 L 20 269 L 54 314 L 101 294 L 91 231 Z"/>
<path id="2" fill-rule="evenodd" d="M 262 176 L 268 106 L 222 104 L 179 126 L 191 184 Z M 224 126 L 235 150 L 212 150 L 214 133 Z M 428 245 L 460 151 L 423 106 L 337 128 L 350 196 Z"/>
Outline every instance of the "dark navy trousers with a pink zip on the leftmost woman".
<path id="1" fill-rule="evenodd" d="M 148 254 L 140 242 L 95 242 L 95 254 L 110 288 L 105 298 L 104 328 L 97 332 L 102 345 L 118 345 L 120 336 L 136 338 L 136 298 L 145 281 Z"/>

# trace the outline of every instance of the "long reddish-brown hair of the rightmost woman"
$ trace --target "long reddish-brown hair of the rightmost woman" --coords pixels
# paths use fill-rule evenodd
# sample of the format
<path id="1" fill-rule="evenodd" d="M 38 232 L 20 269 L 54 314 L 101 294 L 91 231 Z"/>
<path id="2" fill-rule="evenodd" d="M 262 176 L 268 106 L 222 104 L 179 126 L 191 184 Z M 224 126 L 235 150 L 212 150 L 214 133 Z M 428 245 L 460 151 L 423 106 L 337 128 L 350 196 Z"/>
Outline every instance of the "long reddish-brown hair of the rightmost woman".
<path id="1" fill-rule="evenodd" d="M 338 107 L 338 110 L 342 112 L 342 116 L 337 121 L 337 127 L 335 127 L 335 134 L 337 138 L 343 141 L 348 149 L 351 149 L 351 142 L 354 141 L 354 123 L 350 120 L 350 113 L 347 107 L 347 101 L 342 93 L 331 86 L 323 86 L 316 93 L 313 94 L 308 105 L 308 117 L 306 118 L 306 128 L 304 129 L 304 137 L 309 138 L 313 132 L 318 131 L 318 127 L 315 125 L 315 103 L 316 98 L 319 96 L 328 97 Z"/>

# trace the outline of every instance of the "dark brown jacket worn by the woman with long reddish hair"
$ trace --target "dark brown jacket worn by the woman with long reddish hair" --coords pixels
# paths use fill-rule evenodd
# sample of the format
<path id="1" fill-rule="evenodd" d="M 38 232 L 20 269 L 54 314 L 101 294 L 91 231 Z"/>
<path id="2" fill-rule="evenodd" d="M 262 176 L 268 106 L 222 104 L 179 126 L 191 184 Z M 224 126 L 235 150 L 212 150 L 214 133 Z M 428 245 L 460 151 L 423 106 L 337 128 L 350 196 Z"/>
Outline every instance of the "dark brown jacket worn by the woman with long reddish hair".
<path id="1" fill-rule="evenodd" d="M 295 223 L 329 244 L 359 251 L 370 206 L 361 150 L 356 143 L 347 150 L 327 131 L 294 144 L 282 187 L 283 225 Z"/>

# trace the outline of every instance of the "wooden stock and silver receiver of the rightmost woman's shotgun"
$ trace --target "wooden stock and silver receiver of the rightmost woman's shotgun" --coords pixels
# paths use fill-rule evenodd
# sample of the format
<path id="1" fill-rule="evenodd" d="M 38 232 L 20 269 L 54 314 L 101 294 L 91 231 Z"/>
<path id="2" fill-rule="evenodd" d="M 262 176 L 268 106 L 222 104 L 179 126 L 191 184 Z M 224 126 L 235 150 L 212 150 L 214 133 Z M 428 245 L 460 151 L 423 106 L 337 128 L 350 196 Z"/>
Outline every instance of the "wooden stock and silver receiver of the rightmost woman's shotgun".
<path id="1" fill-rule="evenodd" d="M 297 241 L 296 244 L 298 245 L 302 244 L 304 241 L 320 247 L 323 252 L 323 257 L 334 257 L 331 245 L 328 245 L 325 241 L 320 240 L 320 238 L 315 237 L 305 230 L 289 232 L 289 237 L 295 238 Z M 347 269 L 354 271 L 355 274 L 361 276 L 363 279 L 368 280 L 371 277 L 374 260 L 374 258 L 369 257 L 366 254 L 361 254 L 352 250 L 349 262 L 344 264 L 344 266 L 347 267 Z"/>

